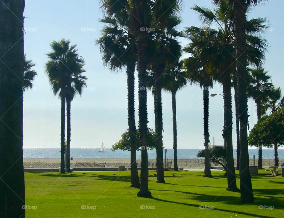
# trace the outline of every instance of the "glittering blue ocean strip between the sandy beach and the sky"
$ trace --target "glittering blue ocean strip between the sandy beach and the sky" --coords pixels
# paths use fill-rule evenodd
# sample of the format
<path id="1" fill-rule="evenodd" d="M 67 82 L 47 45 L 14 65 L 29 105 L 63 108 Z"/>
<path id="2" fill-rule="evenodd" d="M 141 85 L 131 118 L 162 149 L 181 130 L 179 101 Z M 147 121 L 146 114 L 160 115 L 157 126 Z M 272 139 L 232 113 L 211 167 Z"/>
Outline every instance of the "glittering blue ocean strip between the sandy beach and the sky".
<path id="1" fill-rule="evenodd" d="M 130 158 L 130 152 L 117 150 L 113 152 L 107 148 L 106 152 L 98 152 L 95 148 L 71 148 L 70 156 L 74 158 Z M 60 158 L 60 149 L 58 148 L 24 148 L 24 158 Z M 197 158 L 196 154 L 199 149 L 178 149 L 178 158 Z M 263 149 L 262 158 L 274 158 L 273 149 Z M 165 157 L 165 153 L 163 154 Z M 258 157 L 257 149 L 249 149 L 249 157 Z M 141 152 L 136 152 L 137 158 L 141 158 Z M 234 157 L 236 158 L 236 150 L 234 149 Z M 173 149 L 167 149 L 167 158 L 173 158 Z M 156 158 L 156 150 L 148 151 L 148 158 Z M 284 149 L 278 149 L 278 158 L 284 158 Z"/>

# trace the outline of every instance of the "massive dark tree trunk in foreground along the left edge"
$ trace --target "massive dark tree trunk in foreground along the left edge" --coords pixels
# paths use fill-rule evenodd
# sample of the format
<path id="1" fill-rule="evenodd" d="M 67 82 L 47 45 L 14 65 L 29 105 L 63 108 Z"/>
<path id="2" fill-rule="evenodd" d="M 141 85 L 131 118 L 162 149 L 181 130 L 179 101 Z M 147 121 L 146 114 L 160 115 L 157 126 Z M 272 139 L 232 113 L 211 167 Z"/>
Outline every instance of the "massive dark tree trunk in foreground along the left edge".
<path id="1" fill-rule="evenodd" d="M 5 218 L 25 218 L 24 7 L 23 0 L 0 1 L 0 217 Z"/>

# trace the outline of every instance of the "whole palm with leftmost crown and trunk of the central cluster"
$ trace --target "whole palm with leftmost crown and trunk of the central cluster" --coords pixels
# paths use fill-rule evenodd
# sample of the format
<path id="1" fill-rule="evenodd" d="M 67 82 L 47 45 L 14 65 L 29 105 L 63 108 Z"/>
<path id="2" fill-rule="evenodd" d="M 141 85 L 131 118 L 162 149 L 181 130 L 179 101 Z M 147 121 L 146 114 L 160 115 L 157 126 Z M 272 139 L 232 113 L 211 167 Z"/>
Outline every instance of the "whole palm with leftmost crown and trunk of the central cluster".
<path id="1" fill-rule="evenodd" d="M 130 131 L 130 180 L 132 187 L 140 187 L 136 162 L 136 135 L 135 125 L 135 65 L 137 49 L 135 38 L 129 33 L 129 6 L 126 2 L 120 7 L 110 7 L 113 4 L 101 1 L 106 17 L 101 19 L 107 25 L 102 30 L 102 36 L 97 40 L 100 44 L 103 62 L 111 70 L 117 71 L 126 68 L 128 90 L 128 128 Z M 107 4 L 106 4 L 107 3 Z"/>

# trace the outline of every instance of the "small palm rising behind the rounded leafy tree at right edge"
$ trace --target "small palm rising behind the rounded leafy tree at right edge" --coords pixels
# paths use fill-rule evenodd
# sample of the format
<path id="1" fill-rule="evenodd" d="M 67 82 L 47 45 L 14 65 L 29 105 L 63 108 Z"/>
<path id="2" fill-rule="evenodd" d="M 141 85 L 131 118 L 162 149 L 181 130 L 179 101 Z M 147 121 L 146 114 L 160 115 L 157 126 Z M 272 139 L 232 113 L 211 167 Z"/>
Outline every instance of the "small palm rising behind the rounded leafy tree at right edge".
<path id="1" fill-rule="evenodd" d="M 272 88 L 268 101 L 262 105 L 262 111 L 270 111 L 273 114 L 284 106 L 284 97 L 281 98 L 281 88 Z M 277 142 L 274 143 L 274 166 L 279 166 Z"/>

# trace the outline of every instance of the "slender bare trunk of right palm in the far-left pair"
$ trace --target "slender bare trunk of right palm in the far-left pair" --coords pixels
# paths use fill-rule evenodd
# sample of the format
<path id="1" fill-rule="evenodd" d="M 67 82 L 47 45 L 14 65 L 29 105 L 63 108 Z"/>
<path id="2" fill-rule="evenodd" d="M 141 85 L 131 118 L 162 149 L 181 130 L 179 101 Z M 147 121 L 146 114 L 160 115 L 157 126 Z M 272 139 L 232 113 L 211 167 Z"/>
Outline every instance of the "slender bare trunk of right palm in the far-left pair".
<path id="1" fill-rule="evenodd" d="M 66 98 L 66 116 L 67 116 L 67 146 L 66 146 L 66 172 L 70 173 L 70 142 L 71 142 L 71 100 Z"/>

